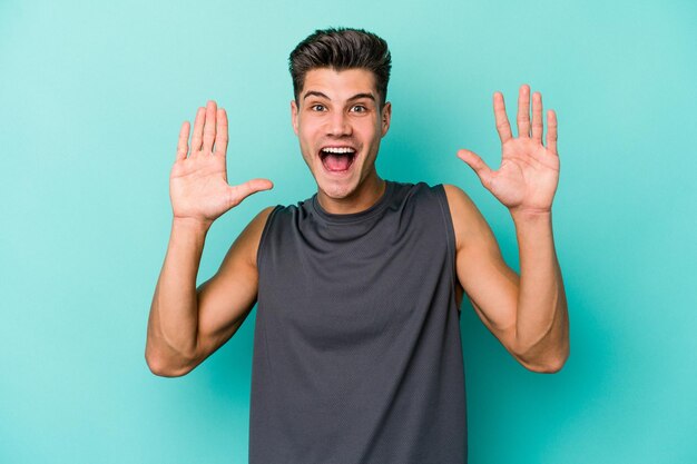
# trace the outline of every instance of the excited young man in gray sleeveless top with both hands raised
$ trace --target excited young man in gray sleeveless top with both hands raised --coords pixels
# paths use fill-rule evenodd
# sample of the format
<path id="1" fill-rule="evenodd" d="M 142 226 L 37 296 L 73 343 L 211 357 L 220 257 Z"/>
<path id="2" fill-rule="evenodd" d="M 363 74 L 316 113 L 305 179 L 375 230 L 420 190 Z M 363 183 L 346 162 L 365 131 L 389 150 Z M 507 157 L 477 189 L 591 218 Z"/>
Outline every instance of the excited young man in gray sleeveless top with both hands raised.
<path id="1" fill-rule="evenodd" d="M 477 207 L 453 186 L 383 180 L 390 52 L 353 29 L 316 31 L 291 53 L 293 128 L 317 184 L 295 206 L 267 208 L 196 288 L 206 233 L 266 179 L 230 187 L 227 117 L 199 108 L 179 134 L 170 176 L 171 237 L 155 289 L 146 358 L 184 375 L 237 330 L 258 302 L 252 379 L 252 463 L 455 463 L 467 460 L 459 307 L 523 366 L 559 371 L 569 322 L 554 254 L 557 121 L 520 88 L 518 137 L 494 93 L 502 161 L 467 162 L 511 213 L 520 277 Z M 188 154 L 188 156 L 187 156 Z"/>

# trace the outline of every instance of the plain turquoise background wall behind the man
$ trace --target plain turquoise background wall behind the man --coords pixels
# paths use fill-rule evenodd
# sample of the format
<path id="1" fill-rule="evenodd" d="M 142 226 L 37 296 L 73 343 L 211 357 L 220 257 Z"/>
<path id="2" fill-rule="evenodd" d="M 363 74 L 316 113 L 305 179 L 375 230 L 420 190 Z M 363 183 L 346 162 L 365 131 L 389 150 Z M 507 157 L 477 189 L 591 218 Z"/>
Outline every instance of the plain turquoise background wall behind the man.
<path id="1" fill-rule="evenodd" d="M 360 27 L 393 56 L 379 170 L 465 189 L 518 266 L 507 210 L 457 157 L 498 166 L 491 96 L 559 117 L 554 231 L 571 320 L 526 371 L 468 305 L 471 463 L 697 462 L 693 1 L 0 1 L 0 462 L 246 462 L 254 314 L 186 377 L 144 361 L 179 126 L 228 110 L 230 182 L 199 283 L 264 206 L 314 192 L 287 56 Z"/>

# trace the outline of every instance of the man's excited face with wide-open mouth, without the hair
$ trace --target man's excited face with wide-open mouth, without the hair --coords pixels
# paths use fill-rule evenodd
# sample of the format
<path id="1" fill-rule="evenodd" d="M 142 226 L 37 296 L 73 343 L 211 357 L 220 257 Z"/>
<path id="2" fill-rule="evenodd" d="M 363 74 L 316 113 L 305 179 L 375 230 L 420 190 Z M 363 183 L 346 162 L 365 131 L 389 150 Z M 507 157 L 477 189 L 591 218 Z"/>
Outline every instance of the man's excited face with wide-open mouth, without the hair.
<path id="1" fill-rule="evenodd" d="M 365 69 L 317 68 L 291 101 L 293 128 L 318 194 L 334 200 L 361 195 L 376 180 L 375 158 L 392 107 L 382 108 L 374 75 Z"/>

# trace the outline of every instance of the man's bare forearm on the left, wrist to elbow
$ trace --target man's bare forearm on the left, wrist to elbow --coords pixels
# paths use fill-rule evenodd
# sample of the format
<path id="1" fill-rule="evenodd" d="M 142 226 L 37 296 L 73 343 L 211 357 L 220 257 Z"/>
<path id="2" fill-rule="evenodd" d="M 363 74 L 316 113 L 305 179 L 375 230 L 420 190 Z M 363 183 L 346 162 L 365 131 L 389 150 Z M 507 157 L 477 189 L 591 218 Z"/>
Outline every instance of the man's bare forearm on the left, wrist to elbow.
<path id="1" fill-rule="evenodd" d="M 207 231 L 208 227 L 196 223 L 173 220 L 148 320 L 146 358 L 154 371 L 185 368 L 195 354 L 196 276 Z"/>

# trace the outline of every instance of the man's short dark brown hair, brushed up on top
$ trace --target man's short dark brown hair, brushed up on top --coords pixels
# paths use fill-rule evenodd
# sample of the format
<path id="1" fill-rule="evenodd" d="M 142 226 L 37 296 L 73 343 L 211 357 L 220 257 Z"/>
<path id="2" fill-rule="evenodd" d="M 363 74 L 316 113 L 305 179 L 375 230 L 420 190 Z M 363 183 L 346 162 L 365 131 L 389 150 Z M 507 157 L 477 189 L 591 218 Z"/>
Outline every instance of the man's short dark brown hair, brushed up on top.
<path id="1" fill-rule="evenodd" d="M 295 101 L 305 85 L 305 75 L 315 68 L 367 69 L 375 76 L 380 106 L 387 99 L 392 58 L 387 42 L 363 29 L 317 29 L 300 42 L 288 58 Z"/>

